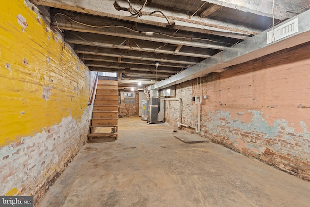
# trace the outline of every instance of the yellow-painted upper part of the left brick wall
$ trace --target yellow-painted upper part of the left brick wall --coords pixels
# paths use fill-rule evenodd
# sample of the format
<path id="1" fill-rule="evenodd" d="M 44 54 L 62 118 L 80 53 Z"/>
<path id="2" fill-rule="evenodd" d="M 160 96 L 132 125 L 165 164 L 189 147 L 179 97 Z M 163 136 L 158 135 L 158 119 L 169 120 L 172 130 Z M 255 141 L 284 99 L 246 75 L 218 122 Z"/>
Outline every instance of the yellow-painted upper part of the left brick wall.
<path id="1" fill-rule="evenodd" d="M 1 3 L 0 35 L 0 146 L 80 119 L 89 71 L 24 0 Z"/>

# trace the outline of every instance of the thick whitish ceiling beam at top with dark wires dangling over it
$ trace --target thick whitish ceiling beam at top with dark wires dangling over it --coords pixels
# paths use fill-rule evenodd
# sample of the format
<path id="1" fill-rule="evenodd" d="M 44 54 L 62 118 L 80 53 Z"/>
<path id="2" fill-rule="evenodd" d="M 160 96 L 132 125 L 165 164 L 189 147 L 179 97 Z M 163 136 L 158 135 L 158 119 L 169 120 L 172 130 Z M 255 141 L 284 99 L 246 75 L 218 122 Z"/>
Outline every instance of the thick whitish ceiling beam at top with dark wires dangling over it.
<path id="1" fill-rule="evenodd" d="M 114 19 L 121 19 L 125 21 L 132 21 L 137 23 L 149 24 L 153 26 L 166 27 L 167 20 L 163 15 L 159 15 L 157 13 L 152 16 L 142 16 L 141 18 L 137 18 L 136 16 L 131 16 L 129 12 L 126 11 L 117 11 L 113 6 L 113 1 L 101 1 L 98 3 L 97 0 L 31 0 L 32 3 L 49 6 L 54 8 L 60 8 L 65 10 L 71 10 L 81 13 L 89 13 L 98 16 L 106 16 Z M 121 6 L 127 7 L 127 2 L 119 2 L 122 4 Z M 140 8 L 140 4 L 132 3 L 133 7 Z M 188 19 L 188 15 L 186 12 L 180 13 L 168 9 L 163 9 L 156 7 L 157 5 L 149 3 L 143 8 L 143 12 L 151 13 L 155 10 L 161 10 L 171 21 L 175 22 L 174 29 L 186 30 L 186 31 L 209 31 L 210 33 L 215 35 L 223 35 L 222 32 L 235 33 L 243 36 L 244 34 L 253 35 L 259 30 L 251 29 L 249 27 L 245 27 L 243 25 L 234 25 L 227 22 L 221 22 L 212 19 L 199 18 L 193 16 L 191 19 Z M 227 35 L 224 35 L 227 36 Z"/>

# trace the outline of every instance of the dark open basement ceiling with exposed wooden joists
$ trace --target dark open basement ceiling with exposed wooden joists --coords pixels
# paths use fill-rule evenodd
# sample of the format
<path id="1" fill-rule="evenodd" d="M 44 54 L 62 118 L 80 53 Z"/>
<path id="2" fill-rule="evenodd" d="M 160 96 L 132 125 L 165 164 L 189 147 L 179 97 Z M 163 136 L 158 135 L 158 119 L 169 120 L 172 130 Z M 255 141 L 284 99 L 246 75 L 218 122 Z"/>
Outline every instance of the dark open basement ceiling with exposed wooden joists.
<path id="1" fill-rule="evenodd" d="M 31 2 L 50 7 L 51 25 L 90 70 L 117 72 L 119 89 L 167 79 L 310 5 L 310 0 Z"/>

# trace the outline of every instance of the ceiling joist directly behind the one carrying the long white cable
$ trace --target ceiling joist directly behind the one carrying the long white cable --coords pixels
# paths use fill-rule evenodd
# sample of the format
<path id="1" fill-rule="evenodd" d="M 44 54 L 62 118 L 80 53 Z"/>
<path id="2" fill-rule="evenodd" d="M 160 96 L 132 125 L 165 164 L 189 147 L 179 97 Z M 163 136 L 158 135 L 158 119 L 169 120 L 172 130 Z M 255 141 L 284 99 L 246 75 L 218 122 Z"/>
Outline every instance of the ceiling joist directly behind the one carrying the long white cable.
<path id="1" fill-rule="evenodd" d="M 174 54 L 174 45 L 151 41 L 131 40 L 123 37 L 86 33 L 86 32 L 65 32 L 65 41 L 73 44 L 99 46 L 105 48 L 119 48 L 134 51 L 144 51 L 162 54 Z M 123 44 L 122 44 L 123 43 Z M 139 47 L 138 47 L 139 46 Z M 165 46 L 165 47 L 163 47 Z M 156 49 L 157 48 L 157 49 Z M 189 57 L 208 58 L 213 50 L 205 48 L 187 47 L 186 52 L 179 52 L 178 55 Z"/>

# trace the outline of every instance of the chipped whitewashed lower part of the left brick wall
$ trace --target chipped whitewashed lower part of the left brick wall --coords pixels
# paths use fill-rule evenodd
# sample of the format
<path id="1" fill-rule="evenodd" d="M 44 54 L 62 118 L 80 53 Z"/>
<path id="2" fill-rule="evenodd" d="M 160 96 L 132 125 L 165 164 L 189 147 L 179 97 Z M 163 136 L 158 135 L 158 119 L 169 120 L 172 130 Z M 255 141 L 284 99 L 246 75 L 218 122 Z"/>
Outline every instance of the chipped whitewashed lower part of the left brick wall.
<path id="1" fill-rule="evenodd" d="M 24 194 L 35 195 L 35 200 L 44 195 L 50 180 L 65 169 L 68 160 L 85 143 L 88 123 L 89 114 L 85 110 L 80 122 L 66 117 L 34 136 L 1 147 L 0 159 L 5 162 L 0 162 L 0 169 L 10 170 L 1 172 L 0 194 L 16 195 L 20 193 L 18 189 L 23 189 Z M 16 188 L 11 189 L 12 186 Z"/>

